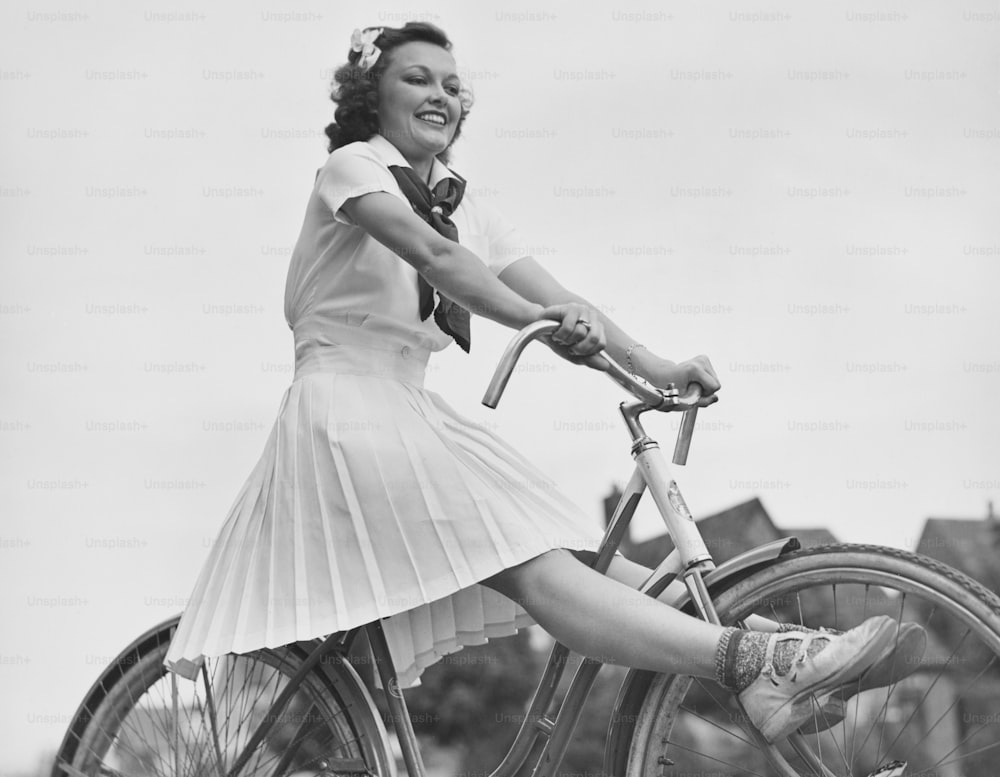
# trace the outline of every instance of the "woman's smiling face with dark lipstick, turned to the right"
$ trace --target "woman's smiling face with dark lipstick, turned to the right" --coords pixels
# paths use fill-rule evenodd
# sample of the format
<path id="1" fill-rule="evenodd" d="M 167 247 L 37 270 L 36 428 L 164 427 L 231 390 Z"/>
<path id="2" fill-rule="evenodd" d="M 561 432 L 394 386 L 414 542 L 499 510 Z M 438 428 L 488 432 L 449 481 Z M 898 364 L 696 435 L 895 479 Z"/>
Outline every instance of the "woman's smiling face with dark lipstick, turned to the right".
<path id="1" fill-rule="evenodd" d="M 379 84 L 379 132 L 412 164 L 451 143 L 462 116 L 455 60 L 433 43 L 412 41 L 389 53 Z"/>

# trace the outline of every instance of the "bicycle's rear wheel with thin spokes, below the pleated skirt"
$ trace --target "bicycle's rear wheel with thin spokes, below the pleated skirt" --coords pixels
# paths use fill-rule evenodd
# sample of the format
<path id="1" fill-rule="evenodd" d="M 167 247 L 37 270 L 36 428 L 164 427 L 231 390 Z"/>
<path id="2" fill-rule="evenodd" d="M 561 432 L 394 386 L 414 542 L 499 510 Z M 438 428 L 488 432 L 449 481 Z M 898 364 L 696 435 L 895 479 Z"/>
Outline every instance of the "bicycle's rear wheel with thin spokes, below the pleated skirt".
<path id="1" fill-rule="evenodd" d="M 178 620 L 144 634 L 102 672 L 70 723 L 53 777 L 225 777 L 319 644 L 208 659 L 192 682 L 163 665 Z M 387 742 L 357 673 L 331 656 L 303 678 L 239 777 L 395 777 Z"/>

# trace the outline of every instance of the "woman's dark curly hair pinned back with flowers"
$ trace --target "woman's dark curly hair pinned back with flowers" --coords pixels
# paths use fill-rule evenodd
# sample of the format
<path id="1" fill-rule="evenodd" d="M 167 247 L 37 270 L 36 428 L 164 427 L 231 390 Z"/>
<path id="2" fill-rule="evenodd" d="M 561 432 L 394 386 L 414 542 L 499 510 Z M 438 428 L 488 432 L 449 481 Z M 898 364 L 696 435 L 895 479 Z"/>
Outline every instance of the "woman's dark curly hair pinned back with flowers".
<path id="1" fill-rule="evenodd" d="M 349 51 L 347 64 L 342 65 L 333 74 L 330 99 L 336 104 L 333 112 L 334 121 L 326 127 L 326 136 L 330 139 L 327 148 L 334 149 L 354 143 L 358 140 L 368 140 L 378 134 L 378 85 L 382 74 L 389 67 L 392 50 L 404 43 L 423 41 L 440 46 L 445 51 L 451 51 L 451 41 L 439 27 L 428 22 L 407 22 L 402 27 L 383 27 L 382 33 L 375 39 L 375 45 L 381 50 L 379 58 L 368 70 L 362 70 L 357 65 L 361 52 Z M 462 114 L 455 127 L 448 148 L 438 154 L 438 159 L 448 162 L 451 146 L 462 132 L 462 124 L 472 107 L 472 94 L 462 86 Z"/>

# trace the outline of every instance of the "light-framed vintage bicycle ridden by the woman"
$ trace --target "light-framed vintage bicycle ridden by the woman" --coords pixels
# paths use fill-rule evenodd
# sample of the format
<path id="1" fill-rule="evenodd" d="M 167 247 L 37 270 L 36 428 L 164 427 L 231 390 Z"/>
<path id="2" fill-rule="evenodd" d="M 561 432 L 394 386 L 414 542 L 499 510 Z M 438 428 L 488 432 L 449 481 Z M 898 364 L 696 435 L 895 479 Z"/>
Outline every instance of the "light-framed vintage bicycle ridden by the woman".
<path id="1" fill-rule="evenodd" d="M 503 354 L 484 404 L 496 407 L 525 346 L 557 322 L 521 330 Z M 714 623 L 757 614 L 780 622 L 847 629 L 875 614 L 920 623 L 930 635 L 916 671 L 887 688 L 849 695 L 829 728 L 803 726 L 769 745 L 735 697 L 714 683 L 632 670 L 611 714 L 608 777 L 691 774 L 995 774 L 1000 756 L 1000 598 L 933 559 L 892 548 L 838 544 L 801 549 L 794 538 L 716 566 L 658 444 L 640 423 L 651 411 L 683 411 L 674 449 L 684 464 L 697 392 L 637 381 L 606 354 L 606 371 L 634 397 L 621 415 L 635 471 L 593 566 L 607 571 L 648 489 L 675 549 L 640 590 Z M 671 583 L 674 583 L 671 586 Z M 670 593 L 670 592 L 674 593 Z M 178 618 L 129 645 L 101 674 L 74 716 L 52 777 L 395 777 L 392 722 L 410 777 L 423 777 L 417 740 L 381 622 L 323 639 L 208 659 L 195 682 L 177 679 L 163 656 Z M 388 720 L 354 668 L 362 633 L 381 679 Z M 583 658 L 561 701 L 570 651 L 556 643 L 523 722 L 490 777 L 554 777 L 602 664 Z M 858 690 L 858 689 L 854 689 Z M 825 715 L 818 705 L 814 718 Z M 822 730 L 824 729 L 825 730 Z"/>

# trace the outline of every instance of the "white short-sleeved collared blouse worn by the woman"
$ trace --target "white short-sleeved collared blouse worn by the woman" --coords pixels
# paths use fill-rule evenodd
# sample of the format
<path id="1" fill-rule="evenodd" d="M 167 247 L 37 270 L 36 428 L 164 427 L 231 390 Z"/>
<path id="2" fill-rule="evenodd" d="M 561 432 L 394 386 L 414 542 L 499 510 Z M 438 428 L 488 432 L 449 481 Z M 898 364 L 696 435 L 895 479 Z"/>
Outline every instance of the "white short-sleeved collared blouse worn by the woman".
<path id="1" fill-rule="evenodd" d="M 375 135 L 336 149 L 317 172 L 285 286 L 285 319 L 296 342 L 347 338 L 368 347 L 430 351 L 453 342 L 433 317 L 420 320 L 417 271 L 341 210 L 349 199 L 371 192 L 409 204 L 389 165 L 410 166 L 392 143 Z M 435 159 L 431 187 L 448 176 L 454 177 Z M 528 255 L 518 231 L 468 190 L 452 221 L 459 243 L 497 275 Z"/>

